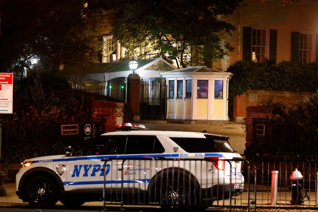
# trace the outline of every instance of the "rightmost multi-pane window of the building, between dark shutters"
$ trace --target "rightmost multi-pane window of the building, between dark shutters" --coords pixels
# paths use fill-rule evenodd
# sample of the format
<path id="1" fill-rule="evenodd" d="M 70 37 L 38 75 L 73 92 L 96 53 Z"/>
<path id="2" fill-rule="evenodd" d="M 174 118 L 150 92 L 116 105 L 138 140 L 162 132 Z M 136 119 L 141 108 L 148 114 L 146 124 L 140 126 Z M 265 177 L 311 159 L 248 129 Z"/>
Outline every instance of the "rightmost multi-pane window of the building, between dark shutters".
<path id="1" fill-rule="evenodd" d="M 306 64 L 311 62 L 312 35 L 299 34 L 299 62 Z"/>

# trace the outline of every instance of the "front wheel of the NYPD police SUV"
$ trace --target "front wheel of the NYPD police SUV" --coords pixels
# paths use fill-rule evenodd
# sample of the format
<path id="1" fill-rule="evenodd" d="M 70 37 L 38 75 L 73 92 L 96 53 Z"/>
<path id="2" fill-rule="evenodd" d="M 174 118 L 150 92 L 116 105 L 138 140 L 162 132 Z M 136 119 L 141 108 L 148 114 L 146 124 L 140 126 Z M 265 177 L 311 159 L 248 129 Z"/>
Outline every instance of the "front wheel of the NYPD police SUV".
<path id="1" fill-rule="evenodd" d="M 26 200 L 36 208 L 52 207 L 58 201 L 57 187 L 56 181 L 50 175 L 35 175 L 26 182 Z"/>

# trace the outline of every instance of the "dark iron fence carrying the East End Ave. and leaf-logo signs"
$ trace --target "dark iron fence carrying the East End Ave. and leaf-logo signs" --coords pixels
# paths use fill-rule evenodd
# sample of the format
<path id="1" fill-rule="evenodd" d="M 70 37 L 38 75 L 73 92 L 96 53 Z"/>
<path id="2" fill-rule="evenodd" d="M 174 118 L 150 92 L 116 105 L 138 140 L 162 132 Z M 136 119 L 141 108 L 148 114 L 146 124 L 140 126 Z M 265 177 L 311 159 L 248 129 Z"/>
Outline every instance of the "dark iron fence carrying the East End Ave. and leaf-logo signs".
<path id="1" fill-rule="evenodd" d="M 65 132 L 63 132 L 63 128 Z M 89 133 L 85 131 L 85 128 L 90 129 Z M 72 131 L 72 133 L 68 133 L 69 131 Z M 41 149 L 42 147 L 49 147 L 55 144 L 63 145 L 61 147 L 63 149 L 64 146 L 68 145 L 72 147 L 82 145 L 87 139 L 97 137 L 104 132 L 104 119 L 88 120 L 85 123 L 79 124 L 20 124 L 19 120 L 17 120 L 10 124 L 1 124 L 1 143 L 2 149 L 5 149 L 7 146 L 21 146 L 23 148 L 29 146 Z"/>

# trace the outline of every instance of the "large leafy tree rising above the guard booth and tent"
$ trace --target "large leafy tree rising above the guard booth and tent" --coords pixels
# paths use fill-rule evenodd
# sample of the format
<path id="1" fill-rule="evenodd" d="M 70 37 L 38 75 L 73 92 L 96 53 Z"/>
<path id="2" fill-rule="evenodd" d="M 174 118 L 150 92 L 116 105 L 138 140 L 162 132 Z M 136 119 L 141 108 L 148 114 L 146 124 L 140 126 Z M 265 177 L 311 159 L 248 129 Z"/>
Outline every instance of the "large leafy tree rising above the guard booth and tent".
<path id="1" fill-rule="evenodd" d="M 118 5 L 114 36 L 121 41 L 126 57 L 131 59 L 163 57 L 178 61 L 182 67 L 190 62 L 190 48 L 197 49 L 211 67 L 233 47 L 224 40 L 235 27 L 219 19 L 230 15 L 242 0 L 134 0 L 115 1 Z M 136 48 L 143 48 L 137 52 Z"/>

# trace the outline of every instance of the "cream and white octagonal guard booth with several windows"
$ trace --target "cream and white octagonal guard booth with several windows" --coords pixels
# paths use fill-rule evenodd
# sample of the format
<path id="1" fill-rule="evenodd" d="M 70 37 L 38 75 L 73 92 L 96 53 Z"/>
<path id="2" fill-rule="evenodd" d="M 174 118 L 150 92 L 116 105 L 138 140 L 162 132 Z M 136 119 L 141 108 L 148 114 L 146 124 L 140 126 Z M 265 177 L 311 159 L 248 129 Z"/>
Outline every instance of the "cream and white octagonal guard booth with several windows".
<path id="1" fill-rule="evenodd" d="M 160 73 L 167 82 L 167 119 L 228 123 L 229 80 L 233 74 L 206 66 Z"/>

